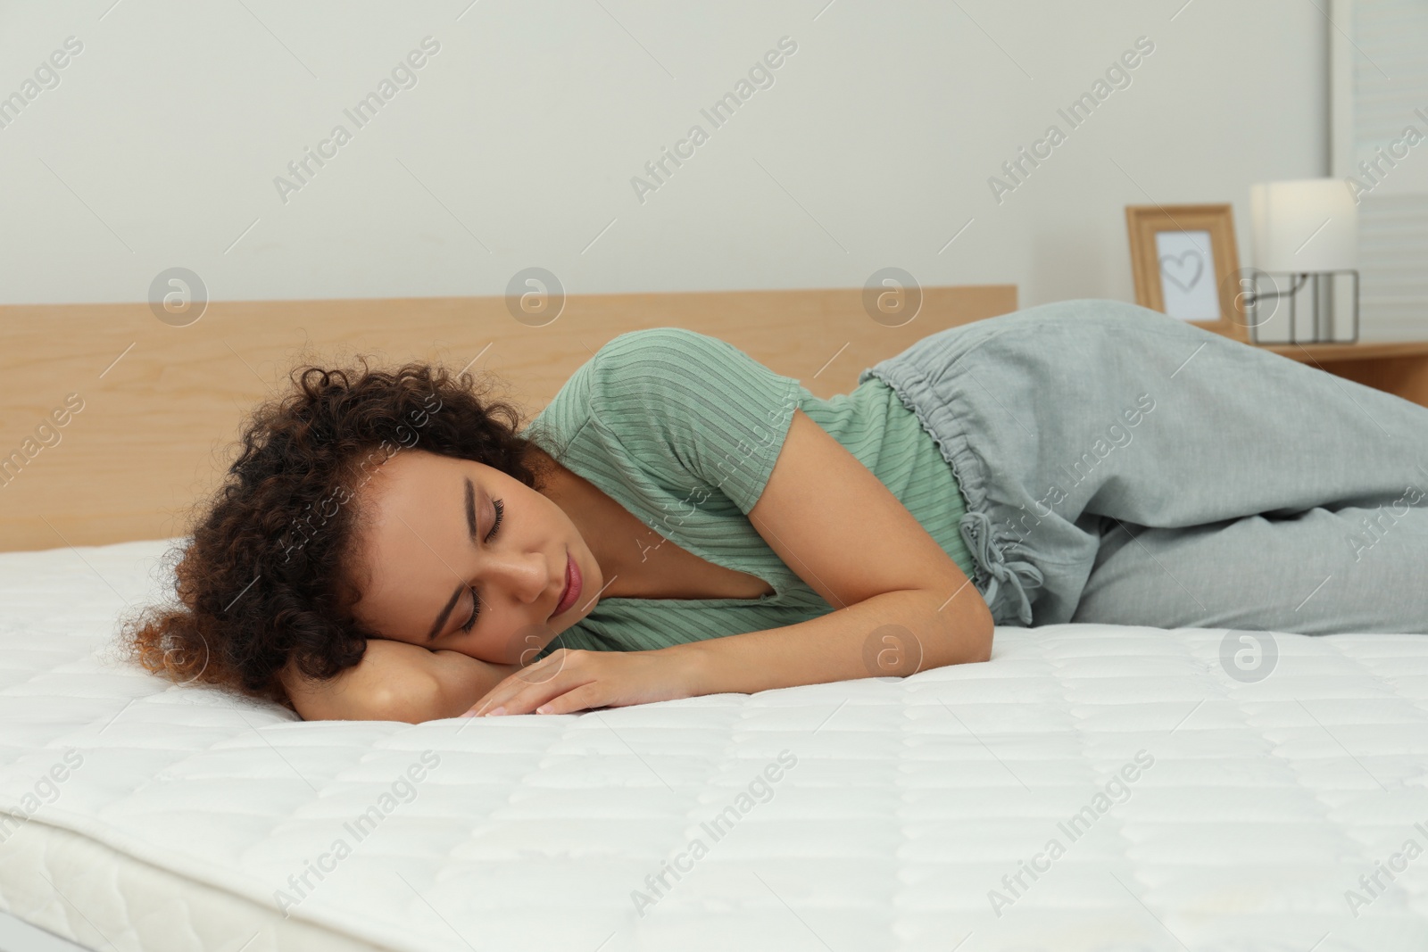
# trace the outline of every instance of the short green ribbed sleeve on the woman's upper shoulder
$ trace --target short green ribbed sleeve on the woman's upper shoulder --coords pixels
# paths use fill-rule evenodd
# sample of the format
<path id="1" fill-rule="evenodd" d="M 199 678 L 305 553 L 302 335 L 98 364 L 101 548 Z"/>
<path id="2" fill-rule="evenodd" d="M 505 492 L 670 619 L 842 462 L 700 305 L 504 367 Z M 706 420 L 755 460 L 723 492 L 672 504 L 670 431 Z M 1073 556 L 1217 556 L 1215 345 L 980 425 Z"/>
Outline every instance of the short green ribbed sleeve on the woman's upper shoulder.
<path id="1" fill-rule="evenodd" d="M 733 344 L 677 327 L 615 337 L 590 371 L 591 415 L 631 458 L 670 485 L 717 488 L 745 514 L 807 393 Z"/>

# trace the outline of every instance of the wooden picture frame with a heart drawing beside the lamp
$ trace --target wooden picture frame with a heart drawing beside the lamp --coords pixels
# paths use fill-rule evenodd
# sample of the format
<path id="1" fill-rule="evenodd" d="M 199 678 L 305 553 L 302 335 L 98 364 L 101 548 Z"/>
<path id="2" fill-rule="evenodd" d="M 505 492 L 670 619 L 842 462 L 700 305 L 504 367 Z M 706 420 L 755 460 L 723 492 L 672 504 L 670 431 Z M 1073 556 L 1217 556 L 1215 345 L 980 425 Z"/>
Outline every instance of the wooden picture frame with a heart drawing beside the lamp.
<path id="1" fill-rule="evenodd" d="M 1125 206 L 1125 228 L 1137 304 L 1250 343 L 1230 204 Z"/>

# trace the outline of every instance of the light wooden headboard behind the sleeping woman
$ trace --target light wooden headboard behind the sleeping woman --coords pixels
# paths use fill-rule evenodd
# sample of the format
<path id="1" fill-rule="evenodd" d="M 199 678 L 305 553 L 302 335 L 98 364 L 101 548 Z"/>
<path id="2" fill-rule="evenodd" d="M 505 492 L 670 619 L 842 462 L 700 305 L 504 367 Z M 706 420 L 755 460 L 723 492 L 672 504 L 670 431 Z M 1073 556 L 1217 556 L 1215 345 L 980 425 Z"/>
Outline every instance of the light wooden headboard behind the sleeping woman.
<path id="1" fill-rule="evenodd" d="M 711 334 L 830 397 L 921 337 L 1014 310 L 1015 285 L 924 288 L 902 327 L 873 321 L 861 288 L 571 295 L 544 327 L 501 297 L 211 303 L 186 327 L 147 303 L 0 307 L 0 551 L 184 535 L 244 412 L 300 354 L 470 364 L 534 415 L 624 331 Z"/>

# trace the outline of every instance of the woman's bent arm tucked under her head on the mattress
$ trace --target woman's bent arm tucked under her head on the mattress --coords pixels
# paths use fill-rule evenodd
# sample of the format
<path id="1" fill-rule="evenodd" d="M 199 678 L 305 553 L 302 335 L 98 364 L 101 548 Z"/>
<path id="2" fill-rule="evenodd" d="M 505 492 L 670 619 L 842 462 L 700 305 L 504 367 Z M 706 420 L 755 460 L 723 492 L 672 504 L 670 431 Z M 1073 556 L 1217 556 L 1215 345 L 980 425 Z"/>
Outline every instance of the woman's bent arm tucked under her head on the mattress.
<path id="1" fill-rule="evenodd" d="M 421 724 L 457 716 L 516 671 L 520 665 L 371 638 L 361 661 L 336 678 L 304 678 L 290 664 L 281 679 L 304 721 Z"/>

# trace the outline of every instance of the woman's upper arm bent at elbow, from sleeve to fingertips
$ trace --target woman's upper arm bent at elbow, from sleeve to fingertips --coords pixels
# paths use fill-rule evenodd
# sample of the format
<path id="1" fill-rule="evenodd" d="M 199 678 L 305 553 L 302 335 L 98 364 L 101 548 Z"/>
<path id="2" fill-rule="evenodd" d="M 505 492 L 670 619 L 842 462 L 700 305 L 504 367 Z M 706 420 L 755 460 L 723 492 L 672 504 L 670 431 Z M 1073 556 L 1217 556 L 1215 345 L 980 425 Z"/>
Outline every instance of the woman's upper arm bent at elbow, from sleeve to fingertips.
<path id="1" fill-rule="evenodd" d="M 658 651 L 557 651 L 497 685 L 474 712 L 567 714 L 908 675 L 991 657 L 991 611 L 977 587 L 907 507 L 801 410 L 748 518 L 833 612 Z"/>

